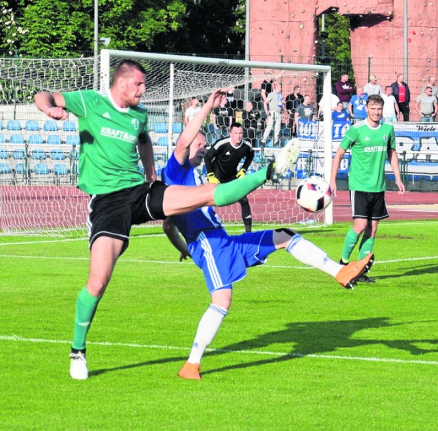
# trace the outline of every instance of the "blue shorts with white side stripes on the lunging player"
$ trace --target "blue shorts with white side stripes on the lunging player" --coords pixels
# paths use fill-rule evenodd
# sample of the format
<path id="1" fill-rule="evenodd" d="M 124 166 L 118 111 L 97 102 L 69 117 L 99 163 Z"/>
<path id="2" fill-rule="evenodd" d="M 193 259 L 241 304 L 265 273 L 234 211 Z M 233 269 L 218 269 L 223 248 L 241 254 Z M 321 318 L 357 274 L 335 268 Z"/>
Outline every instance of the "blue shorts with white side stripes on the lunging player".
<path id="1" fill-rule="evenodd" d="M 204 272 L 209 293 L 246 276 L 246 268 L 266 262 L 274 252 L 272 230 L 229 236 L 222 229 L 207 230 L 189 244 L 193 261 Z"/>

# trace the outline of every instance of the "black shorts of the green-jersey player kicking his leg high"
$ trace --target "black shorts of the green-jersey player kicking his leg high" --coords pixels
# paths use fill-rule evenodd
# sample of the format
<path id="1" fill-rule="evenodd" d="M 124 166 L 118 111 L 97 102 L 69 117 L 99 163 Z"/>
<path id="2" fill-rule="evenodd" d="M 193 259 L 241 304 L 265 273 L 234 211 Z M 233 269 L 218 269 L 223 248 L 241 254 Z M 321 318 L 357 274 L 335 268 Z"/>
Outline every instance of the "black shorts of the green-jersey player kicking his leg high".
<path id="1" fill-rule="evenodd" d="M 167 187 L 164 182 L 155 181 L 106 195 L 93 195 L 87 219 L 90 249 L 99 236 L 110 236 L 125 242 L 122 254 L 128 247 L 132 225 L 166 219 L 163 198 Z"/>

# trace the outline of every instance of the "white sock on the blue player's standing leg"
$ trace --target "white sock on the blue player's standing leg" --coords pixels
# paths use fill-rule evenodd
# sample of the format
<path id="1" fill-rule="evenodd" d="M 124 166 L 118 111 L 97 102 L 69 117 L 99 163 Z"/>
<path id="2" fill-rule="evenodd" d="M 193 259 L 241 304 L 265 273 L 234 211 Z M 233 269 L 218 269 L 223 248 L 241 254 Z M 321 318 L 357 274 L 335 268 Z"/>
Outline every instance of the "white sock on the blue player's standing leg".
<path id="1" fill-rule="evenodd" d="M 205 311 L 203 317 L 199 321 L 198 330 L 194 336 L 192 350 L 188 362 L 192 364 L 200 364 L 201 358 L 207 349 L 207 346 L 213 341 L 214 336 L 218 332 L 222 320 L 227 316 L 228 311 L 225 308 L 210 304 Z"/>

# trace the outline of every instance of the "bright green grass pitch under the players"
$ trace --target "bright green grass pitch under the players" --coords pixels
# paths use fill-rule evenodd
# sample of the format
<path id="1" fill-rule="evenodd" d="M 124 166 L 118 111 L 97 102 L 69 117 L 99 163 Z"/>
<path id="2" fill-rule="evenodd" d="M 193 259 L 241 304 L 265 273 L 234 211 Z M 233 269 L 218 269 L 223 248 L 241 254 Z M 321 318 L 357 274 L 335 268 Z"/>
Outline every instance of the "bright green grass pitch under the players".
<path id="1" fill-rule="evenodd" d="M 300 232 L 337 260 L 349 227 Z M 249 269 L 201 382 L 177 372 L 207 289 L 158 232 L 116 266 L 84 382 L 68 352 L 87 242 L 0 238 L 1 430 L 437 429 L 438 222 L 381 223 L 376 284 L 354 291 L 285 251 Z"/>

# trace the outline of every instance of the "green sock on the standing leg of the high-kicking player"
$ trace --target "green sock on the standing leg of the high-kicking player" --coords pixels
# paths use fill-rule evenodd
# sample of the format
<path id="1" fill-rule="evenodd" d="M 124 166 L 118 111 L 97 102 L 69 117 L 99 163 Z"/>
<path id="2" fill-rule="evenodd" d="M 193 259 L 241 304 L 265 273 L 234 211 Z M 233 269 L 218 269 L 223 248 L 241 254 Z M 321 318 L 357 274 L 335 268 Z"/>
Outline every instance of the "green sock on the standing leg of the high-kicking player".
<path id="1" fill-rule="evenodd" d="M 97 304 L 99 304 L 100 300 L 101 297 L 96 298 L 90 295 L 85 287 L 77 295 L 75 333 L 73 334 L 73 344 L 71 345 L 73 349 L 85 349 L 87 332 L 90 329 Z"/>

